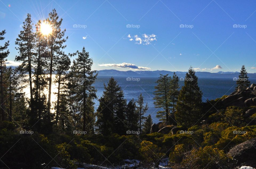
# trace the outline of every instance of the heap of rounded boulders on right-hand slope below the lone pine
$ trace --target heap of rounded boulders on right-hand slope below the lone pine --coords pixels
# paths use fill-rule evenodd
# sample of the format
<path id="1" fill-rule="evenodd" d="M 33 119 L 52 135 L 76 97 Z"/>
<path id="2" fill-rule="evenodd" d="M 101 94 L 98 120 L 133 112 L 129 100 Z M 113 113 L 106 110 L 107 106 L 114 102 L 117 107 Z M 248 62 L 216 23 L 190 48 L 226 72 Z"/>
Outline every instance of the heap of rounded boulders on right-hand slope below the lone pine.
<path id="1" fill-rule="evenodd" d="M 237 92 L 231 93 L 226 98 L 222 99 L 222 103 L 225 106 L 256 106 L 256 91 L 254 88 L 256 84 L 251 84 L 248 88 L 239 86 Z"/>

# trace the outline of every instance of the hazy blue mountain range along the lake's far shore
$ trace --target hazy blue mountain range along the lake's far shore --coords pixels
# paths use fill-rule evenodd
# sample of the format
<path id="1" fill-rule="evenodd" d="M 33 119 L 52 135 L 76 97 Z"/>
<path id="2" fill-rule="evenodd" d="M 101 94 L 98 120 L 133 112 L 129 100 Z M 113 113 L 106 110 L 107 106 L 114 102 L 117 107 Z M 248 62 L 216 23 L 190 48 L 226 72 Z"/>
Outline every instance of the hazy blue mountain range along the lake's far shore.
<path id="1" fill-rule="evenodd" d="M 99 70 L 98 76 L 126 76 L 126 77 L 140 77 L 140 76 L 154 76 L 158 77 L 159 74 L 162 75 L 173 75 L 174 72 L 172 71 L 166 71 L 166 70 L 156 70 L 156 71 L 118 71 L 118 70 Z M 179 77 L 185 77 L 187 72 L 175 72 L 177 76 Z M 217 72 L 217 73 L 211 73 L 211 72 L 196 72 L 195 73 L 198 77 L 210 77 L 210 78 L 234 78 L 238 77 L 239 72 Z M 256 73 L 248 73 L 247 74 L 249 78 L 256 78 Z"/>

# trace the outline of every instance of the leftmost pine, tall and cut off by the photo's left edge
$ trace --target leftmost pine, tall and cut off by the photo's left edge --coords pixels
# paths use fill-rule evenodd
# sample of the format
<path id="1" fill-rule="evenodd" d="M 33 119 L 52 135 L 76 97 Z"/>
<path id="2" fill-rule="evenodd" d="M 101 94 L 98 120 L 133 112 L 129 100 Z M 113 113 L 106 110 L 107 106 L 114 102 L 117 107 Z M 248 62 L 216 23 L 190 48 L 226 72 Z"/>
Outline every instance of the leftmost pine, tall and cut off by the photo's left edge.
<path id="1" fill-rule="evenodd" d="M 5 30 L 3 30 L 2 32 L 0 32 L 0 41 L 4 40 L 5 37 Z M 9 50 L 7 49 L 7 47 L 9 46 L 9 41 L 5 42 L 5 44 L 3 46 L 0 46 L 0 97 L 1 97 L 1 102 L 0 102 L 0 109 L 1 109 L 1 116 L 2 116 L 2 120 L 5 120 L 5 103 L 4 103 L 4 87 L 6 85 L 6 83 L 4 82 L 4 76 L 5 76 L 5 71 L 6 71 L 6 64 L 5 64 L 5 58 L 9 55 Z"/>

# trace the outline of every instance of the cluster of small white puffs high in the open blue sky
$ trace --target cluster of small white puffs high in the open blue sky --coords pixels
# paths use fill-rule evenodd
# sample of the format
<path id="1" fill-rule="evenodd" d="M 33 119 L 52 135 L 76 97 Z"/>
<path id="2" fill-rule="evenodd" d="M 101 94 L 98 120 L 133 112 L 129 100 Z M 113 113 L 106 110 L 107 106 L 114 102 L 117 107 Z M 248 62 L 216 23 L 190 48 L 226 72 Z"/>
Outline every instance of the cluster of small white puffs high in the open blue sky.
<path id="1" fill-rule="evenodd" d="M 144 33 L 143 35 L 142 35 L 142 37 L 140 37 L 140 36 L 138 36 L 138 35 L 134 35 L 133 36 L 133 38 L 131 38 L 131 35 L 129 34 L 128 36 L 127 36 L 128 38 L 130 38 L 129 40 L 130 41 L 133 41 L 133 40 L 135 40 L 135 44 L 143 44 L 143 45 L 149 45 L 149 44 L 151 44 L 151 42 L 153 42 L 153 41 L 157 41 L 157 36 L 155 35 L 155 34 L 146 34 L 146 33 Z"/>

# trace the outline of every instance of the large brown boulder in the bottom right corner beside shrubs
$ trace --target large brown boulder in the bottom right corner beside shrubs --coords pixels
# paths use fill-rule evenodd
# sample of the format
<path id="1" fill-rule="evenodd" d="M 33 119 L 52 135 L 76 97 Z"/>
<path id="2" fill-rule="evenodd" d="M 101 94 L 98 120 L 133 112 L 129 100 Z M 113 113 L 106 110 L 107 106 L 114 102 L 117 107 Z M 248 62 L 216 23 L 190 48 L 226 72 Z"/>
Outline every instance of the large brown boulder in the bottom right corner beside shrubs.
<path id="1" fill-rule="evenodd" d="M 247 140 L 245 142 L 242 142 L 241 144 L 238 144 L 234 146 L 232 149 L 229 150 L 227 153 L 228 155 L 231 155 L 235 161 L 237 161 L 237 165 L 243 163 L 243 165 L 248 164 L 247 162 L 250 162 L 251 164 L 255 165 L 256 162 L 256 153 L 255 153 L 255 147 L 256 147 L 256 138 L 252 138 L 250 140 Z M 255 167 L 253 165 L 250 165 L 252 167 Z"/>

